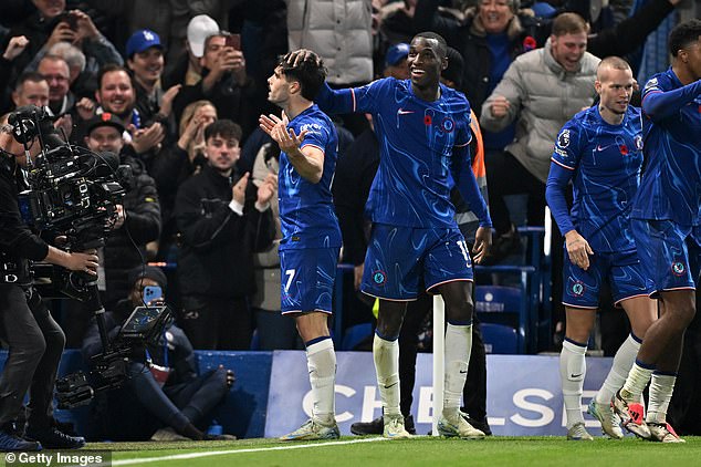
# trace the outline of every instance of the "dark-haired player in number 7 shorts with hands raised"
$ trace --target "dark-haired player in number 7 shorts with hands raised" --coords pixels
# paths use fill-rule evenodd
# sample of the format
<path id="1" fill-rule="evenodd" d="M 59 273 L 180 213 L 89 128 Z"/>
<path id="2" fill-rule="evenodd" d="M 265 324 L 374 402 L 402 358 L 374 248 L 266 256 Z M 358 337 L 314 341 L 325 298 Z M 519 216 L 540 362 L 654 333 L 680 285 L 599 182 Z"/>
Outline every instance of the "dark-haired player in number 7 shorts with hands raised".
<path id="1" fill-rule="evenodd" d="M 282 240 L 282 312 L 291 314 L 305 343 L 314 399 L 313 414 L 284 440 L 339 437 L 334 415 L 336 354 L 327 319 L 341 230 L 331 181 L 338 136 L 313 100 L 326 77 L 321 62 L 285 60 L 268 80 L 268 100 L 283 108 L 282 118 L 261 115 L 260 126 L 280 146 L 279 199 Z"/>

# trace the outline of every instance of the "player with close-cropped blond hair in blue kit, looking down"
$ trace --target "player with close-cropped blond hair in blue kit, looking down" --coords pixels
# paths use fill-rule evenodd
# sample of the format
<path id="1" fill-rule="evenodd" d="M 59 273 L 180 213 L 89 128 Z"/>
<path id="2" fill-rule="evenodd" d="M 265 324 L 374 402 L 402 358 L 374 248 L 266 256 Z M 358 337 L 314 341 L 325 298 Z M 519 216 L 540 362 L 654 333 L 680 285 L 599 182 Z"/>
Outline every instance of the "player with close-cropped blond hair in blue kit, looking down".
<path id="1" fill-rule="evenodd" d="M 640 111 L 628 106 L 634 84 L 625 60 L 609 56 L 599 63 L 595 82 L 599 103 L 579 112 L 559 132 L 547 177 L 547 204 L 565 237 L 563 304 L 567 326 L 559 377 L 567 439 L 594 439 L 584 427 L 582 393 L 585 353 L 603 282 L 610 283 L 616 305 L 622 307 L 631 324 L 630 335 L 616 352 L 604 385 L 589 404 L 589 413 L 611 438 L 620 439 L 624 434 L 610 399 L 624 384 L 657 315 L 630 229 L 630 208 L 642 165 Z M 572 210 L 565 198 L 569 181 Z"/>

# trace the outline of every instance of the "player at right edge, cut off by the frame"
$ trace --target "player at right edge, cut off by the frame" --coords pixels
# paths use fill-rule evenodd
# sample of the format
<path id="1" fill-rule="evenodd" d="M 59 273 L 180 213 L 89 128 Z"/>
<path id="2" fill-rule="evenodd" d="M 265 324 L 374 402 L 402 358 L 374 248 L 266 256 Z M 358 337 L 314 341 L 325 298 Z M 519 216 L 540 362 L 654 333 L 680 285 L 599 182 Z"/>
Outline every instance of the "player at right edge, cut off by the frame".
<path id="1" fill-rule="evenodd" d="M 701 266 L 701 20 L 669 34 L 672 65 L 642 92 L 645 157 L 631 225 L 660 318 L 648 330 L 611 403 L 626 427 L 662 443 L 683 442 L 667 423 L 684 330 L 695 314 Z M 650 383 L 648 413 L 634 404 Z"/>

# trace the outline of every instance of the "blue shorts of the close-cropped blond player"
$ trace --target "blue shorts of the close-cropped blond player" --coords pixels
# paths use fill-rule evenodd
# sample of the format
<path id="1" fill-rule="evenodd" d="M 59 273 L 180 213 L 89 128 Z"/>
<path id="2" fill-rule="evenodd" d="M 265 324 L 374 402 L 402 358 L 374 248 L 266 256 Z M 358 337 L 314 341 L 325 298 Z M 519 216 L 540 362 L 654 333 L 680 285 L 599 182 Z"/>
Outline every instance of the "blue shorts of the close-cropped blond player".
<path id="1" fill-rule="evenodd" d="M 598 308 L 601 283 L 608 280 L 618 305 L 632 297 L 647 297 L 647 279 L 642 273 L 636 250 L 621 252 L 594 252 L 589 256 L 586 271 L 569 261 L 567 248 L 563 247 L 563 304 L 575 308 Z"/>

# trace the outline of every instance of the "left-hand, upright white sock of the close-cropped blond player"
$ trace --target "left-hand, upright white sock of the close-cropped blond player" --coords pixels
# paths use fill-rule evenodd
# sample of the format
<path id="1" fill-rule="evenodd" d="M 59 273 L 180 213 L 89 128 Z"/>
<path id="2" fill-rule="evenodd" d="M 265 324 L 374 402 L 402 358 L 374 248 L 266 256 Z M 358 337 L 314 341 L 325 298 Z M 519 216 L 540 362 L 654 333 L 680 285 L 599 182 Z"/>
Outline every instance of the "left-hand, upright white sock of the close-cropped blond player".
<path id="1" fill-rule="evenodd" d="M 586 352 L 586 345 L 578 345 L 565 339 L 563 350 L 559 353 L 559 381 L 563 386 L 563 399 L 567 414 L 567 429 L 576 423 L 584 423 L 582 393 L 587 372 L 584 360 Z"/>

